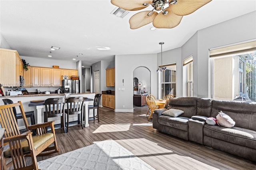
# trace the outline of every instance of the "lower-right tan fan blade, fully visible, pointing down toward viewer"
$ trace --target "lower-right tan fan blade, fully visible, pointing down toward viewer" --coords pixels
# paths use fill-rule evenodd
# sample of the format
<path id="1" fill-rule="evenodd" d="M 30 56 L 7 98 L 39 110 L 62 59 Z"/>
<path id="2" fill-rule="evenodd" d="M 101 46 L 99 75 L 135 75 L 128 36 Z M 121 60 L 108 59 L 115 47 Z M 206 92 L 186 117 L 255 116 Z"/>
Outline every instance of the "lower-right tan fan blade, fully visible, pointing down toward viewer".
<path id="1" fill-rule="evenodd" d="M 160 12 L 153 20 L 153 26 L 156 28 L 174 28 L 180 24 L 183 16 L 174 14 L 171 8 L 166 8 L 167 14 Z"/>

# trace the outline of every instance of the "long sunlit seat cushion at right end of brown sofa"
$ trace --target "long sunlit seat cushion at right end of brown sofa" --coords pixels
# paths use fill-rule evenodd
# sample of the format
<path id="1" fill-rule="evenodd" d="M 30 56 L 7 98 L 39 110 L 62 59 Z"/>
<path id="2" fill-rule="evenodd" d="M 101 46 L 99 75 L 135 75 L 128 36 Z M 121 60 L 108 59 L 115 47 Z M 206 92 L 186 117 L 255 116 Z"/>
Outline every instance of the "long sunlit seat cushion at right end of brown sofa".
<path id="1" fill-rule="evenodd" d="M 255 148 L 256 131 L 246 128 L 225 128 L 212 125 L 204 125 L 204 136 L 209 136 L 226 142 Z"/>

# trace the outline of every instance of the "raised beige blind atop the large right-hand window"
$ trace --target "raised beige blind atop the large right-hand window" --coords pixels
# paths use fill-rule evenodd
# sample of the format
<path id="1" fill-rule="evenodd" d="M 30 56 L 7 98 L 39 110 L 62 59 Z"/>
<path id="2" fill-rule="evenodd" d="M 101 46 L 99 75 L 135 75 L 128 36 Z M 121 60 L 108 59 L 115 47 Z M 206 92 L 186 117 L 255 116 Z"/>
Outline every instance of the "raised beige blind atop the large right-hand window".
<path id="1" fill-rule="evenodd" d="M 243 53 L 243 52 L 254 51 L 254 50 L 256 50 L 256 41 L 232 45 L 228 47 L 222 47 L 218 49 L 212 49 L 210 50 L 210 57 L 233 55 L 236 53 Z"/>

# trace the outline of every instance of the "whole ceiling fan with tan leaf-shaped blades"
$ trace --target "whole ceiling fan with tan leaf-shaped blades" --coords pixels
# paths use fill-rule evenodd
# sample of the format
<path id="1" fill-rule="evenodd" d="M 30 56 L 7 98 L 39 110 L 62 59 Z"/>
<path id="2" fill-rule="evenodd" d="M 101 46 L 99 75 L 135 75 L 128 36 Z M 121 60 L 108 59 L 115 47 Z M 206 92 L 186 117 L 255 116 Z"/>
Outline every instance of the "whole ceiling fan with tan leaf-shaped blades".
<path id="1" fill-rule="evenodd" d="M 151 11 L 138 12 L 130 18 L 130 28 L 137 29 L 151 22 L 155 28 L 174 28 L 180 24 L 183 16 L 195 12 L 210 1 L 212 0 L 111 0 L 111 3 L 128 11 L 141 10 L 151 5 Z"/>

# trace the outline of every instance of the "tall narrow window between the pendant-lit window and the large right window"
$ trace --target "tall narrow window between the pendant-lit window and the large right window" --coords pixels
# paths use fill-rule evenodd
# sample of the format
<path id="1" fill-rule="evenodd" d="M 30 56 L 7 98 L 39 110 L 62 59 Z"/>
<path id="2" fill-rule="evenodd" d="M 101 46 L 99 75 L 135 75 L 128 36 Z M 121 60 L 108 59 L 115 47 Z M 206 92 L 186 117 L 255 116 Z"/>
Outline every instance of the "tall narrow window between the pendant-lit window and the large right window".
<path id="1" fill-rule="evenodd" d="M 193 97 L 193 57 L 190 56 L 183 61 L 183 94 Z"/>

